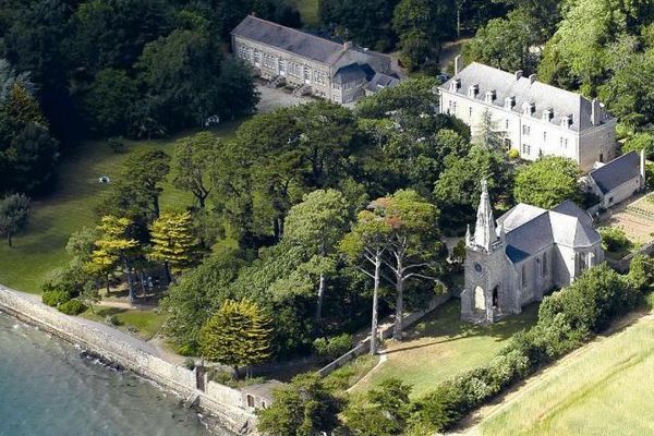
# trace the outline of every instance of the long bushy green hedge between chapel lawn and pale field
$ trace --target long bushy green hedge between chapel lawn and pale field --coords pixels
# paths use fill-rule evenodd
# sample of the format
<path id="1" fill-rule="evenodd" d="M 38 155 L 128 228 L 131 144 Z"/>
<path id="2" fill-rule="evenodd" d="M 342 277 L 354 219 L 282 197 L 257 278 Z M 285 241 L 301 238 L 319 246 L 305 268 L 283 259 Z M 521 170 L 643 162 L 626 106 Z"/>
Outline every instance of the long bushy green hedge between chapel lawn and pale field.
<path id="1" fill-rule="evenodd" d="M 488 364 L 440 384 L 414 404 L 409 435 L 443 432 L 542 365 L 589 341 L 617 316 L 632 310 L 654 283 L 654 262 L 635 256 L 620 276 L 606 265 L 585 271 L 541 303 L 538 322 L 511 338 Z"/>

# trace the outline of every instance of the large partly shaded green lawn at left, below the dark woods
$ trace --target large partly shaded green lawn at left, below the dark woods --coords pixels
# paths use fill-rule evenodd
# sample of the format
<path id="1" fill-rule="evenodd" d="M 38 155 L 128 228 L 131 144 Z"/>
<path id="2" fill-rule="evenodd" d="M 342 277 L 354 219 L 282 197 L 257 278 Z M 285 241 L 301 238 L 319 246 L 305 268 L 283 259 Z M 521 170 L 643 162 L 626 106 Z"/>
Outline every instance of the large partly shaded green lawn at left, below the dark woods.
<path id="1" fill-rule="evenodd" d="M 239 124 L 225 123 L 216 132 L 229 136 Z M 48 274 L 68 262 L 64 247 L 70 234 L 95 225 L 94 207 L 108 189 L 98 183 L 98 177 L 114 177 L 129 153 L 138 148 L 158 148 L 170 154 L 178 138 L 128 142 L 120 154 L 112 153 L 105 142 L 86 143 L 64 157 L 58 171 L 58 184 L 52 194 L 33 203 L 31 223 L 14 239 L 14 247 L 0 244 L 0 283 L 25 292 L 39 292 Z M 183 208 L 191 203 L 190 194 L 170 184 L 165 186 L 162 209 Z"/>

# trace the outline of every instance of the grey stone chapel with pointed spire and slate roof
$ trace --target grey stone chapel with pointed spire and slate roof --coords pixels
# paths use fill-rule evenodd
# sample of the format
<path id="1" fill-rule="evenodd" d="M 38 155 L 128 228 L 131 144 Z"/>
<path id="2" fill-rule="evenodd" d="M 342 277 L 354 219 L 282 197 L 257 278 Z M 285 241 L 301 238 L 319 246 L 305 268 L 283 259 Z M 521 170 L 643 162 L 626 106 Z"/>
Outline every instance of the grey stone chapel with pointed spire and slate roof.
<path id="1" fill-rule="evenodd" d="M 602 263 L 601 242 L 590 215 L 570 201 L 552 210 L 519 204 L 496 223 L 482 181 L 474 233 L 469 227 L 465 234 L 462 319 L 489 324 L 519 314 Z"/>

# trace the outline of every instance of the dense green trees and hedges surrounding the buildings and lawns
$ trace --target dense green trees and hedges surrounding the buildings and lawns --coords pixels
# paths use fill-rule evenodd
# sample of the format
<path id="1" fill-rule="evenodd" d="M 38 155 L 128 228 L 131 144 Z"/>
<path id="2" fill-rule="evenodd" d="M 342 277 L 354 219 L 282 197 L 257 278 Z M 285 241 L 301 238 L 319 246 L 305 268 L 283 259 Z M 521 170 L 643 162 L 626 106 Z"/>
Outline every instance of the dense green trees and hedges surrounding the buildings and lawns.
<path id="1" fill-rule="evenodd" d="M 459 36 L 472 37 L 467 62 L 537 72 L 598 96 L 619 119 L 623 149 L 654 157 L 651 0 L 322 0 L 315 31 L 399 49 L 415 76 L 354 109 L 318 100 L 250 117 L 254 80 L 227 44 L 252 11 L 302 26 L 282 0 L 0 1 L 0 193 L 8 194 L 0 233 L 9 240 L 29 210 L 22 194 L 52 185 L 60 156 L 84 140 L 150 138 L 214 114 L 246 117 L 233 138 L 202 132 L 167 153 L 130 155 L 101 198 L 97 226 L 71 237 L 71 262 L 45 286 L 44 301 L 77 313 L 117 283 L 136 298 L 143 277 L 159 268 L 170 284 L 162 308 L 178 351 L 237 368 L 330 341 L 348 348 L 342 334 L 370 325 L 377 300 L 380 314 L 400 315 L 401 339 L 402 310 L 452 286 L 463 255 L 460 246 L 448 254 L 441 240 L 474 222 L 482 178 L 500 211 L 516 202 L 584 201 L 574 162 L 521 162 L 501 148 L 489 120 L 472 141 L 460 120 L 437 113 L 439 82 L 431 75 L 445 66 L 441 46 Z M 166 180 L 192 195 L 193 207 L 162 210 Z M 450 425 L 633 306 L 651 282 L 652 266 L 639 262 L 644 278 L 602 269 L 570 292 L 583 295 L 548 300 L 540 327 L 475 373 L 487 389 L 457 379 L 411 404 L 409 387 L 389 383 L 371 392 L 377 414 L 352 408 L 348 421 L 361 435 Z M 595 290 L 589 319 L 580 301 Z M 252 340 L 234 340 L 239 331 Z M 282 423 L 283 431 L 275 428 L 276 413 L 286 412 L 272 410 L 263 425 L 284 435 L 339 425 L 342 403 L 319 380 L 300 378 L 279 397 L 292 403 L 306 392 L 324 410 Z M 391 398 L 401 401 L 389 405 Z"/>

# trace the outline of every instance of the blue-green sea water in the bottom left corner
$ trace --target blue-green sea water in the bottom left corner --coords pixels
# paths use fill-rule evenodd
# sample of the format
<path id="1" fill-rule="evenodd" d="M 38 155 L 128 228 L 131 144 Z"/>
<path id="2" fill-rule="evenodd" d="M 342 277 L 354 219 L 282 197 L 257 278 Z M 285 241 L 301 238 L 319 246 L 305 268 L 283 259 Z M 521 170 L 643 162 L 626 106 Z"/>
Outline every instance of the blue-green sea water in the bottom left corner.
<path id="1" fill-rule="evenodd" d="M 0 436 L 86 435 L 209 432 L 174 395 L 0 313 Z"/>

